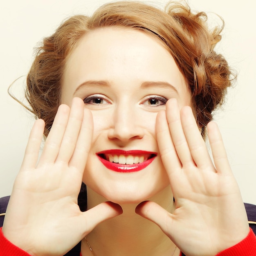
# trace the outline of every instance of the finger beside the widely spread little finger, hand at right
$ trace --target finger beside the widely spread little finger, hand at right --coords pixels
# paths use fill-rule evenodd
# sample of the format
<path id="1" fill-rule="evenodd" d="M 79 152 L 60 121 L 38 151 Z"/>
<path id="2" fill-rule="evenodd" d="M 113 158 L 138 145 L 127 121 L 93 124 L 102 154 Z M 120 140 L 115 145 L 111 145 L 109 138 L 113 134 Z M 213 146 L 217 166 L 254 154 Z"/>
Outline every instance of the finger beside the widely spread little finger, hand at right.
<path id="1" fill-rule="evenodd" d="M 209 166 L 213 167 L 211 157 L 198 129 L 191 107 L 185 106 L 180 113 L 186 141 L 195 164 L 202 170 L 209 168 Z"/>

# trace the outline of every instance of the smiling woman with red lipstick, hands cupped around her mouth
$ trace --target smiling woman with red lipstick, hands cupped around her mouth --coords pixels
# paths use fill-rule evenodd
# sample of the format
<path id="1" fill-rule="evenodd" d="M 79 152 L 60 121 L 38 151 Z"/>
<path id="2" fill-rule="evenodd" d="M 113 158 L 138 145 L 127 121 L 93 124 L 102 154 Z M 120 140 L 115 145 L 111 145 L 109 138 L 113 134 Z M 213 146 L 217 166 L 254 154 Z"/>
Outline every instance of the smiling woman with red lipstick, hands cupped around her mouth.
<path id="1" fill-rule="evenodd" d="M 222 28 L 205 20 L 179 4 L 117 2 L 45 38 L 27 76 L 38 119 L 3 255 L 64 255 L 79 241 L 82 256 L 256 255 L 211 122 L 232 74 L 214 51 Z"/>

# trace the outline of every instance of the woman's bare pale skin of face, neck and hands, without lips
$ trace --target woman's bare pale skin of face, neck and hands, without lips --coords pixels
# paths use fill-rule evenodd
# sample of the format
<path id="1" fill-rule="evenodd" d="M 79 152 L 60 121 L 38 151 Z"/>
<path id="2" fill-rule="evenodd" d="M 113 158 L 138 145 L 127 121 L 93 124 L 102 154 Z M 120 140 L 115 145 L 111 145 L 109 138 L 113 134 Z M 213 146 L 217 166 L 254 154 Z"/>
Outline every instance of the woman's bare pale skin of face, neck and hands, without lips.
<path id="1" fill-rule="evenodd" d="M 95 95 L 99 101 L 89 98 Z M 168 101 L 152 104 L 151 96 Z M 91 32 L 67 61 L 63 103 L 39 160 L 43 120 L 31 130 L 2 229 L 12 243 L 31 255 L 57 256 L 86 235 L 97 255 L 167 256 L 177 245 L 187 256 L 213 256 L 247 236 L 218 126 L 207 126 L 212 163 L 185 79 L 161 42 L 130 29 Z M 106 149 L 157 157 L 144 170 L 120 174 L 97 158 Z M 90 255 L 84 240 L 81 252 Z"/>

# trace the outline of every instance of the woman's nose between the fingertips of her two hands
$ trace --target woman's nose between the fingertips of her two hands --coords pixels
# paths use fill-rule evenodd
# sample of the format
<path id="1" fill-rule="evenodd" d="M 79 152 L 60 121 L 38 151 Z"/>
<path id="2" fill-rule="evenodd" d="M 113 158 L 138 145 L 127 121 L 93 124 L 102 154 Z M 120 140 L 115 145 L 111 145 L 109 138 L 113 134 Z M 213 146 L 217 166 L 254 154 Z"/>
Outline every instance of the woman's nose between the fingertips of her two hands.
<path id="1" fill-rule="evenodd" d="M 142 118 L 139 111 L 131 106 L 117 106 L 113 111 L 112 125 L 108 131 L 110 139 L 128 142 L 144 136 Z"/>

